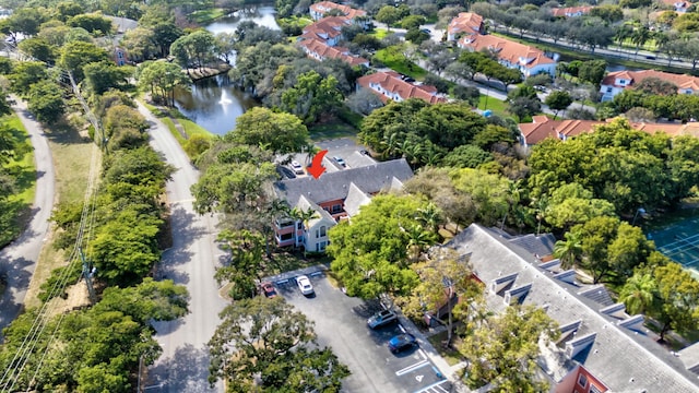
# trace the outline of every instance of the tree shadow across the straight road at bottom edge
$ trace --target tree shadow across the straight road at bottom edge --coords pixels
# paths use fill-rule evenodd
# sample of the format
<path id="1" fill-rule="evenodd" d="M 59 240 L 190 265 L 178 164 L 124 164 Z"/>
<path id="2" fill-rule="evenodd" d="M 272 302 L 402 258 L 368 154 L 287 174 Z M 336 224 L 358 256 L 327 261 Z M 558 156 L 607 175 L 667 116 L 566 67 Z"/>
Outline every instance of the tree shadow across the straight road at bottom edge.
<path id="1" fill-rule="evenodd" d="M 191 344 L 178 347 L 149 369 L 144 389 L 151 392 L 217 392 L 209 385 L 209 350 Z"/>

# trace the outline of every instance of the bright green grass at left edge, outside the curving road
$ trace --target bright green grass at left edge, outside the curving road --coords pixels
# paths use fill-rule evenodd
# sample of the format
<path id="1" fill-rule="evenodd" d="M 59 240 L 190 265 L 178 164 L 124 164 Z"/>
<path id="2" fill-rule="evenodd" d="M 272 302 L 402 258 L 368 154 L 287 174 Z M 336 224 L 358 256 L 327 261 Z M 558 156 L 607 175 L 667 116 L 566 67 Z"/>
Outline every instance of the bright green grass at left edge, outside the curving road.
<path id="1" fill-rule="evenodd" d="M 34 202 L 36 192 L 36 167 L 34 166 L 34 151 L 29 135 L 20 118 L 15 115 L 4 116 L 0 122 L 14 130 L 12 138 L 17 142 L 17 151 L 24 153 L 20 159 L 11 159 L 5 166 L 11 174 L 16 175 L 16 191 L 8 200 L 9 209 L 5 212 L 0 212 L 0 215 L 7 216 L 7 222 L 10 223 L 5 228 L 0 227 L 0 245 L 5 245 L 16 237 L 27 223 L 28 217 L 25 213 Z"/>

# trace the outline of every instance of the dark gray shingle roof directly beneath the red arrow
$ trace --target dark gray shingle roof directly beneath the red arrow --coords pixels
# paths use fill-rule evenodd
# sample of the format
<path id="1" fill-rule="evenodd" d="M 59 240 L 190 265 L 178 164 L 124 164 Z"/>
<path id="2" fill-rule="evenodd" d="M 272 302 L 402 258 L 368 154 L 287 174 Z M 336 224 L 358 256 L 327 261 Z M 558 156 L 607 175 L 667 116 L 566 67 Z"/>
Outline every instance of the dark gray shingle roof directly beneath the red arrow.
<path id="1" fill-rule="evenodd" d="M 277 196 L 294 206 L 300 195 L 305 195 L 315 203 L 345 199 L 351 183 L 371 195 L 391 189 L 395 183 L 394 179 L 402 182 L 412 177 L 413 170 L 407 162 L 401 158 L 359 168 L 324 172 L 318 179 L 307 176 L 281 180 L 274 183 L 274 191 Z"/>

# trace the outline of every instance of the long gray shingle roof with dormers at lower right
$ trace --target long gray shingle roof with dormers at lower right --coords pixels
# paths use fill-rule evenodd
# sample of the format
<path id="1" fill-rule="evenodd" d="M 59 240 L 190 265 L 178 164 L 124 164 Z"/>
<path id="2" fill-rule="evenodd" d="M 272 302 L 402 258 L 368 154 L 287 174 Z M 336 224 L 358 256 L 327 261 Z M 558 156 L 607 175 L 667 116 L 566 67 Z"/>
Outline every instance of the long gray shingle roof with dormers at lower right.
<path id="1" fill-rule="evenodd" d="M 555 273 L 541 269 L 528 250 L 475 224 L 457 235 L 448 247 L 471 253 L 473 269 L 487 288 L 499 277 L 517 273 L 509 290 L 532 284 L 520 299 L 523 305 L 545 308 L 559 326 L 577 325 L 574 334 L 568 332 L 558 343 L 558 349 L 552 348 L 554 356 L 542 357 L 542 368 L 555 381 L 559 382 L 580 364 L 612 392 L 699 392 L 697 376 L 655 343 L 654 333 L 619 325 L 625 320 L 627 324 L 632 322 L 629 318 L 633 317 L 624 314 L 625 319 L 619 320 L 600 313 L 603 306 L 578 294 L 584 293 L 585 287 L 553 278 Z M 494 311 L 507 307 L 502 294 L 489 289 L 486 294 L 486 302 Z M 582 338 L 587 338 L 584 348 L 573 346 L 581 344 Z M 573 358 L 559 356 L 565 352 Z"/>

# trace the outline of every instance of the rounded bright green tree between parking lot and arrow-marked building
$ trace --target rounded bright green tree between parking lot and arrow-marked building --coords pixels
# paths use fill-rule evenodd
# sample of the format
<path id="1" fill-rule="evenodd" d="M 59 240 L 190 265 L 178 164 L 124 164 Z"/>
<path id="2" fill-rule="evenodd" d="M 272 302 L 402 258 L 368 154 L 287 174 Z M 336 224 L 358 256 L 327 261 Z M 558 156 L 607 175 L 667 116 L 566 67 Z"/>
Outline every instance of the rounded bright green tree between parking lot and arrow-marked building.
<path id="1" fill-rule="evenodd" d="M 351 223 L 330 229 L 331 269 L 347 294 L 365 299 L 406 295 L 418 277 L 410 269 L 411 228 L 420 225 L 418 210 L 428 203 L 414 196 L 377 195 Z M 428 235 L 434 242 L 436 235 Z"/>

